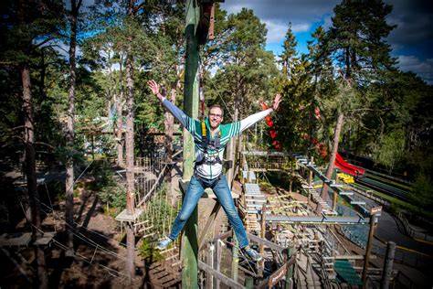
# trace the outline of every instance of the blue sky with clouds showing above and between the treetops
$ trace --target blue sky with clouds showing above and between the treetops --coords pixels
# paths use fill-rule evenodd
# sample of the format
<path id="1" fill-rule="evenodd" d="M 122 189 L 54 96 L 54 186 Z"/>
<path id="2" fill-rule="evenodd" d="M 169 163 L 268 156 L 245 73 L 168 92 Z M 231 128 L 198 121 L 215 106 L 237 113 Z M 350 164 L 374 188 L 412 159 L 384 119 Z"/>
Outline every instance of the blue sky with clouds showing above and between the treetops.
<path id="1" fill-rule="evenodd" d="M 267 49 L 278 54 L 289 23 L 298 41 L 298 50 L 306 52 L 307 40 L 316 27 L 330 27 L 337 0 L 226 0 L 221 7 L 238 13 L 242 7 L 254 11 L 268 28 Z M 400 70 L 413 71 L 433 84 L 433 1 L 385 0 L 393 5 L 388 24 L 397 25 L 386 41 L 398 59 Z"/>

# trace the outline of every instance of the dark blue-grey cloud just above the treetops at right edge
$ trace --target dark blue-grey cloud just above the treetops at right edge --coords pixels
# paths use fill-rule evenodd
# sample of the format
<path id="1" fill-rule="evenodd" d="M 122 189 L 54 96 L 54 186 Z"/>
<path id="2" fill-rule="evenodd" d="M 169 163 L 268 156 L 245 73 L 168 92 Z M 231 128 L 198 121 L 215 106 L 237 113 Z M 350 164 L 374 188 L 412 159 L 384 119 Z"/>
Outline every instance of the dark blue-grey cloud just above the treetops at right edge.
<path id="1" fill-rule="evenodd" d="M 428 84 L 433 84 L 433 59 L 421 60 L 413 55 L 400 55 L 398 57 L 398 66 L 400 70 L 412 71 L 426 80 Z"/>

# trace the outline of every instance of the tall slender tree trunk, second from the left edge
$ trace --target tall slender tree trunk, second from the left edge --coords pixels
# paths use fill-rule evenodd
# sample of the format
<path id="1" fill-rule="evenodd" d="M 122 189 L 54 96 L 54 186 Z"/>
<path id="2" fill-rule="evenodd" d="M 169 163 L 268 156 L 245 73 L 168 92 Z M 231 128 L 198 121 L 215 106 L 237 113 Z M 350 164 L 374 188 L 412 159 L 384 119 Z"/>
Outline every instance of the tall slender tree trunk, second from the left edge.
<path id="1" fill-rule="evenodd" d="M 68 159 L 66 162 L 66 231 L 67 231 L 67 256 L 73 256 L 74 252 L 74 161 L 72 152 L 74 150 L 74 116 L 75 116 L 75 50 L 77 47 L 77 18 L 79 15 L 79 4 L 71 0 L 70 38 L 69 38 L 69 97 L 68 97 L 68 126 L 66 131 L 66 145 L 68 147 Z"/>

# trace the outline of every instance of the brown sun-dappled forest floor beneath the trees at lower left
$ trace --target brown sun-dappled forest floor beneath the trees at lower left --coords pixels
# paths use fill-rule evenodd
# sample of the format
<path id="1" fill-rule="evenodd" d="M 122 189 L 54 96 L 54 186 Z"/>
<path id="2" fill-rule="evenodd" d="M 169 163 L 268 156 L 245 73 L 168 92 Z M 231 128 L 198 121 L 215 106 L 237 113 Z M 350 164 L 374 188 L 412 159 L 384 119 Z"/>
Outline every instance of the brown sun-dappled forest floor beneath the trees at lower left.
<path id="1" fill-rule="evenodd" d="M 9 183 L 18 174 L 3 175 L 2 184 Z M 61 174 L 60 174 L 61 175 Z M 56 177 L 61 179 L 62 176 Z M 81 180 L 88 181 L 85 177 Z M 39 186 L 39 188 L 42 186 Z M 49 187 L 49 186 L 48 186 Z M 14 188 L 14 187 L 12 187 Z M 43 196 L 43 189 L 39 189 L 41 199 L 41 214 L 43 222 L 41 230 L 45 233 L 55 232 L 50 245 L 44 248 L 48 269 L 50 288 L 122 288 L 128 284 L 125 268 L 125 240 L 124 231 L 121 232 L 119 223 L 102 209 L 97 194 L 93 191 L 80 189 L 74 198 L 74 251 L 75 258 L 65 256 L 65 202 Z M 13 231 L 24 234 L 30 231 L 30 226 L 24 218 L 22 203 L 14 198 L 15 191 L 5 195 L 12 199 L 5 203 L 16 211 L 11 225 L 2 226 L 2 232 Z M 3 224 L 2 224 L 3 225 Z M 9 227 L 9 228 L 7 228 Z M 31 247 L 21 246 L 4 248 L 9 252 L 10 258 L 0 262 L 2 272 L 0 278 L 1 288 L 31 287 L 28 280 L 34 280 L 36 275 L 34 250 Z M 2 254 L 5 260 L 5 252 Z M 144 262 L 139 254 L 135 258 L 137 277 L 132 280 L 132 288 L 146 288 Z M 16 264 L 21 267 L 16 270 Z"/>

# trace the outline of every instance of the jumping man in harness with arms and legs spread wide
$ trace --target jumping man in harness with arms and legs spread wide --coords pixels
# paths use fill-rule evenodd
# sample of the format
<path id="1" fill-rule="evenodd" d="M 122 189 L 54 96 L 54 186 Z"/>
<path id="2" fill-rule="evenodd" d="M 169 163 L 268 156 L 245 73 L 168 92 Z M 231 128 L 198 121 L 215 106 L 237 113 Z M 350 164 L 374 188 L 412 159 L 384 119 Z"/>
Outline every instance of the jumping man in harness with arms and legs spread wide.
<path id="1" fill-rule="evenodd" d="M 252 260 L 262 259 L 260 254 L 248 245 L 247 233 L 242 220 L 239 218 L 238 210 L 235 207 L 230 189 L 227 185 L 226 177 L 221 173 L 222 159 L 226 144 L 230 138 L 242 133 L 254 123 L 264 119 L 270 112 L 278 109 L 281 96 L 277 94 L 272 107 L 266 111 L 258 112 L 248 116 L 246 119 L 237 123 L 221 124 L 224 117 L 223 109 L 219 105 L 209 108 L 208 117 L 202 123 L 193 120 L 181 111 L 174 103 L 169 102 L 160 93 L 160 86 L 154 80 L 148 81 L 149 88 L 154 95 L 163 103 L 164 107 L 171 112 L 182 125 L 193 134 L 195 143 L 195 167 L 194 175 L 191 177 L 189 187 L 186 190 L 182 208 L 174 219 L 174 224 L 170 235 L 156 246 L 159 250 L 164 250 L 174 241 L 185 226 L 186 220 L 193 213 L 198 200 L 203 195 L 206 187 L 211 187 L 218 199 L 221 207 L 227 214 L 230 225 L 235 230 L 238 237 L 239 247 Z"/>

